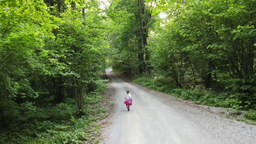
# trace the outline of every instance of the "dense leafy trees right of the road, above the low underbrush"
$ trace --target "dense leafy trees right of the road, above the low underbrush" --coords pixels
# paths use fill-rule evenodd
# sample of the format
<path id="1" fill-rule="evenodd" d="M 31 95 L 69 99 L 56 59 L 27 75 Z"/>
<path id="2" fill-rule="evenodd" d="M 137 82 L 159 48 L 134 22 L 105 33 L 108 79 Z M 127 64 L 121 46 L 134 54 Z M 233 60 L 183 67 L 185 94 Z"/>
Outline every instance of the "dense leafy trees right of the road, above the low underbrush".
<path id="1" fill-rule="evenodd" d="M 155 23 L 149 41 L 152 66 L 177 87 L 204 84 L 239 92 L 235 99 L 255 103 L 255 3 L 197 0 L 166 5 L 162 12 L 167 16 Z"/>

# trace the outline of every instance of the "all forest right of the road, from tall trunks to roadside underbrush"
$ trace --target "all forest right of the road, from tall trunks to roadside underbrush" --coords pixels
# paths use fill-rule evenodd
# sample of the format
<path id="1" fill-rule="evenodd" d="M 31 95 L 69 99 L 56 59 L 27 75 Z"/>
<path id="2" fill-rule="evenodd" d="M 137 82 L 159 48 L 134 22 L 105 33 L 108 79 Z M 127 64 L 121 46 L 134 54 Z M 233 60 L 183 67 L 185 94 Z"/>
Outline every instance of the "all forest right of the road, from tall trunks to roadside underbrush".
<path id="1" fill-rule="evenodd" d="M 114 71 L 184 100 L 232 108 L 235 115 L 245 110 L 245 119 L 237 120 L 255 121 L 256 2 L 143 2 L 111 7 L 113 22 L 125 21 L 110 36 Z M 118 9 L 124 11 L 121 16 Z"/>

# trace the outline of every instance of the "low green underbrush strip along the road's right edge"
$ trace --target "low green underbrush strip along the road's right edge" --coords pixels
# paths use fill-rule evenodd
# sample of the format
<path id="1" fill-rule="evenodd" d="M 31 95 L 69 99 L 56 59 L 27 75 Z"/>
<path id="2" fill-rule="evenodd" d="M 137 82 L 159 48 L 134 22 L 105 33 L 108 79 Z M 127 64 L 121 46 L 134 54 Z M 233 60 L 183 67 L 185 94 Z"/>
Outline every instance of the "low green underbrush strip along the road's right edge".
<path id="1" fill-rule="evenodd" d="M 255 99 L 243 100 L 246 97 L 245 94 L 214 92 L 212 90 L 202 90 L 200 87 L 195 87 L 194 89 L 180 89 L 176 88 L 174 85 L 175 82 L 172 82 L 170 78 L 164 76 L 148 78 L 142 75 L 134 78 L 133 81 L 152 90 L 164 92 L 184 100 L 194 101 L 198 104 L 246 110 L 244 118 L 256 121 L 256 104 L 252 104 Z"/>

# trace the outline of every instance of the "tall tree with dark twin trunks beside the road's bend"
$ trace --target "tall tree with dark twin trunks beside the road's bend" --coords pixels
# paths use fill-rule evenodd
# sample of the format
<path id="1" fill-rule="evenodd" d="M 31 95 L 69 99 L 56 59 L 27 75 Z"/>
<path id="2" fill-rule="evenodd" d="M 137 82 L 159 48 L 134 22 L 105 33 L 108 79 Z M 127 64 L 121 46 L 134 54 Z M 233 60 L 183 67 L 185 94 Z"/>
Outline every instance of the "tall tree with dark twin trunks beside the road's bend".
<path id="1" fill-rule="evenodd" d="M 113 35 L 118 35 L 118 41 L 122 41 L 120 48 L 137 46 L 137 50 L 130 52 L 136 53 L 139 61 L 139 73 L 147 72 L 150 76 L 149 53 L 147 48 L 148 30 L 152 25 L 152 12 L 156 1 L 145 0 L 121 0 L 113 1 L 112 8 L 108 12 L 108 16 L 115 23 L 124 22 L 126 25 L 120 26 L 120 30 L 113 31 Z M 120 11 L 123 10 L 123 11 Z M 119 12 L 116 14 L 116 12 Z M 120 13 L 122 12 L 122 13 Z M 122 16 L 121 16 L 122 15 Z M 125 17 L 124 20 L 121 18 Z M 132 43 L 132 45 L 128 45 Z M 118 46 L 116 46 L 118 47 Z M 132 49 L 132 48 L 131 48 Z M 132 56 L 134 58 L 134 56 Z M 134 65 L 131 64 L 131 65 Z"/>

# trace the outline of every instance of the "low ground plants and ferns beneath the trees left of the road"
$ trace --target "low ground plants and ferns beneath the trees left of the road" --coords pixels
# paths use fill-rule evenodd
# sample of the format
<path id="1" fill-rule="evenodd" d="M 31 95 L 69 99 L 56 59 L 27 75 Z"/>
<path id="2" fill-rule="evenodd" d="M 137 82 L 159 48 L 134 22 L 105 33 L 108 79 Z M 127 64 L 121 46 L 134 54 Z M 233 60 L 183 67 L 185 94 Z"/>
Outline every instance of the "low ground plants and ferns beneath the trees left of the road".
<path id="1" fill-rule="evenodd" d="M 26 102 L 20 106 L 23 114 L 17 117 L 17 122 L 0 133 L 0 144 L 97 143 L 100 127 L 93 123 L 108 115 L 102 100 L 100 94 L 88 94 L 81 118 L 75 117 L 74 99 L 51 108 L 39 108 L 35 103 Z"/>

